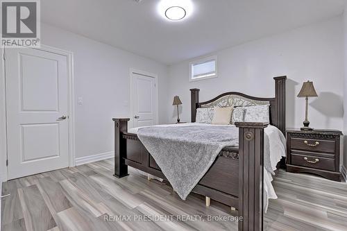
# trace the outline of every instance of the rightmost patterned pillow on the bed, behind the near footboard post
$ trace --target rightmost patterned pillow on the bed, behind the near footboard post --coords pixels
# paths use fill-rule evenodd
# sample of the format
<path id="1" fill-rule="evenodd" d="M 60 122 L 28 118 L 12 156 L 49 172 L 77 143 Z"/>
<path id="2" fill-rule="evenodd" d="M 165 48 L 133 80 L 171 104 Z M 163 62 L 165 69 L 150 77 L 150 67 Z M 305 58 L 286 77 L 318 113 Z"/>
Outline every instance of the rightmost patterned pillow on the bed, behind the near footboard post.
<path id="1" fill-rule="evenodd" d="M 244 115 L 245 122 L 266 122 L 270 123 L 270 105 L 256 105 L 244 108 L 246 113 Z"/>

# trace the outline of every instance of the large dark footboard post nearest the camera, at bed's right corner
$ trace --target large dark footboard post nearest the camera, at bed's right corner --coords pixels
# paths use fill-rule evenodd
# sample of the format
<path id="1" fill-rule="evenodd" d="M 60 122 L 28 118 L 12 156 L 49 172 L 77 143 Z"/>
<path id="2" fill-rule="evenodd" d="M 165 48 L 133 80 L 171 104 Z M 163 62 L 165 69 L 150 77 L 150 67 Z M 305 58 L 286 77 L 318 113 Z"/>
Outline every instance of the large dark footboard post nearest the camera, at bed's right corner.
<path id="1" fill-rule="evenodd" d="M 264 128 L 268 123 L 237 122 L 239 128 L 240 231 L 263 228 Z"/>

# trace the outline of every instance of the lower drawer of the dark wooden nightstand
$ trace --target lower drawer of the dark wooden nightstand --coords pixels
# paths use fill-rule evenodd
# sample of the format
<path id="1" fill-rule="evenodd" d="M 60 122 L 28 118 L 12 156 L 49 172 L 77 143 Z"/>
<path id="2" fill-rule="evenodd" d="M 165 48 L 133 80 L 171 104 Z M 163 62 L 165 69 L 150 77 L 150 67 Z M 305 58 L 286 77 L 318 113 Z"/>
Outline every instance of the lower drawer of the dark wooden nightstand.
<path id="1" fill-rule="evenodd" d="M 314 169 L 335 171 L 335 159 L 317 157 L 312 155 L 298 155 L 291 153 L 291 164 Z"/>

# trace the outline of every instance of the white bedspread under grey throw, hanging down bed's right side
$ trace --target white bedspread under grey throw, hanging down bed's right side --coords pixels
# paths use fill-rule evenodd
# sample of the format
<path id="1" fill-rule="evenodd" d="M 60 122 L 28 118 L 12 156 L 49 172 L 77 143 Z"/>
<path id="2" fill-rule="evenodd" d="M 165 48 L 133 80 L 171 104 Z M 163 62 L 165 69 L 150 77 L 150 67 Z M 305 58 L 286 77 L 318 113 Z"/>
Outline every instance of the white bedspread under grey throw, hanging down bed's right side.
<path id="1" fill-rule="evenodd" d="M 158 126 L 211 126 L 211 124 L 206 123 L 178 123 L 178 124 L 163 124 Z M 219 126 L 219 125 L 214 125 Z M 230 125 L 233 126 L 233 125 Z M 137 130 L 139 128 L 130 128 L 128 132 L 137 134 Z M 275 126 L 269 125 L 264 129 L 264 155 L 269 153 L 271 168 L 272 170 L 276 170 L 276 165 L 281 160 L 282 157 L 286 156 L 285 150 L 285 136 L 282 132 L 276 128 Z M 267 211 L 267 207 L 269 205 L 269 199 L 276 199 L 277 195 L 273 186 L 271 184 L 274 175 L 273 171 L 266 171 L 264 169 L 264 211 Z M 160 179 L 159 179 L 160 180 Z"/>

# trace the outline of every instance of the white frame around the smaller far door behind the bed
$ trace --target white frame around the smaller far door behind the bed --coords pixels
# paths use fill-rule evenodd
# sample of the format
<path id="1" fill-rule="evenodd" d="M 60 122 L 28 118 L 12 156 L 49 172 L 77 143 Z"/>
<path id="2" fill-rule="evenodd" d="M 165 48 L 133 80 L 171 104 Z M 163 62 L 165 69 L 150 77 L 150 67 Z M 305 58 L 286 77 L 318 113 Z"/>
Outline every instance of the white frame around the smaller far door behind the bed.
<path id="1" fill-rule="evenodd" d="M 142 71 L 139 69 L 134 69 L 134 68 L 130 68 L 130 81 L 129 81 L 129 89 L 130 89 L 130 121 L 129 121 L 129 125 L 130 128 L 134 127 L 134 111 L 133 111 L 133 78 L 134 78 L 134 74 L 139 74 L 142 76 L 146 76 L 149 78 L 154 78 L 154 88 L 155 88 L 155 124 L 159 124 L 159 110 L 158 110 L 158 75 L 157 74 L 153 74 L 151 72 L 148 71 Z"/>

